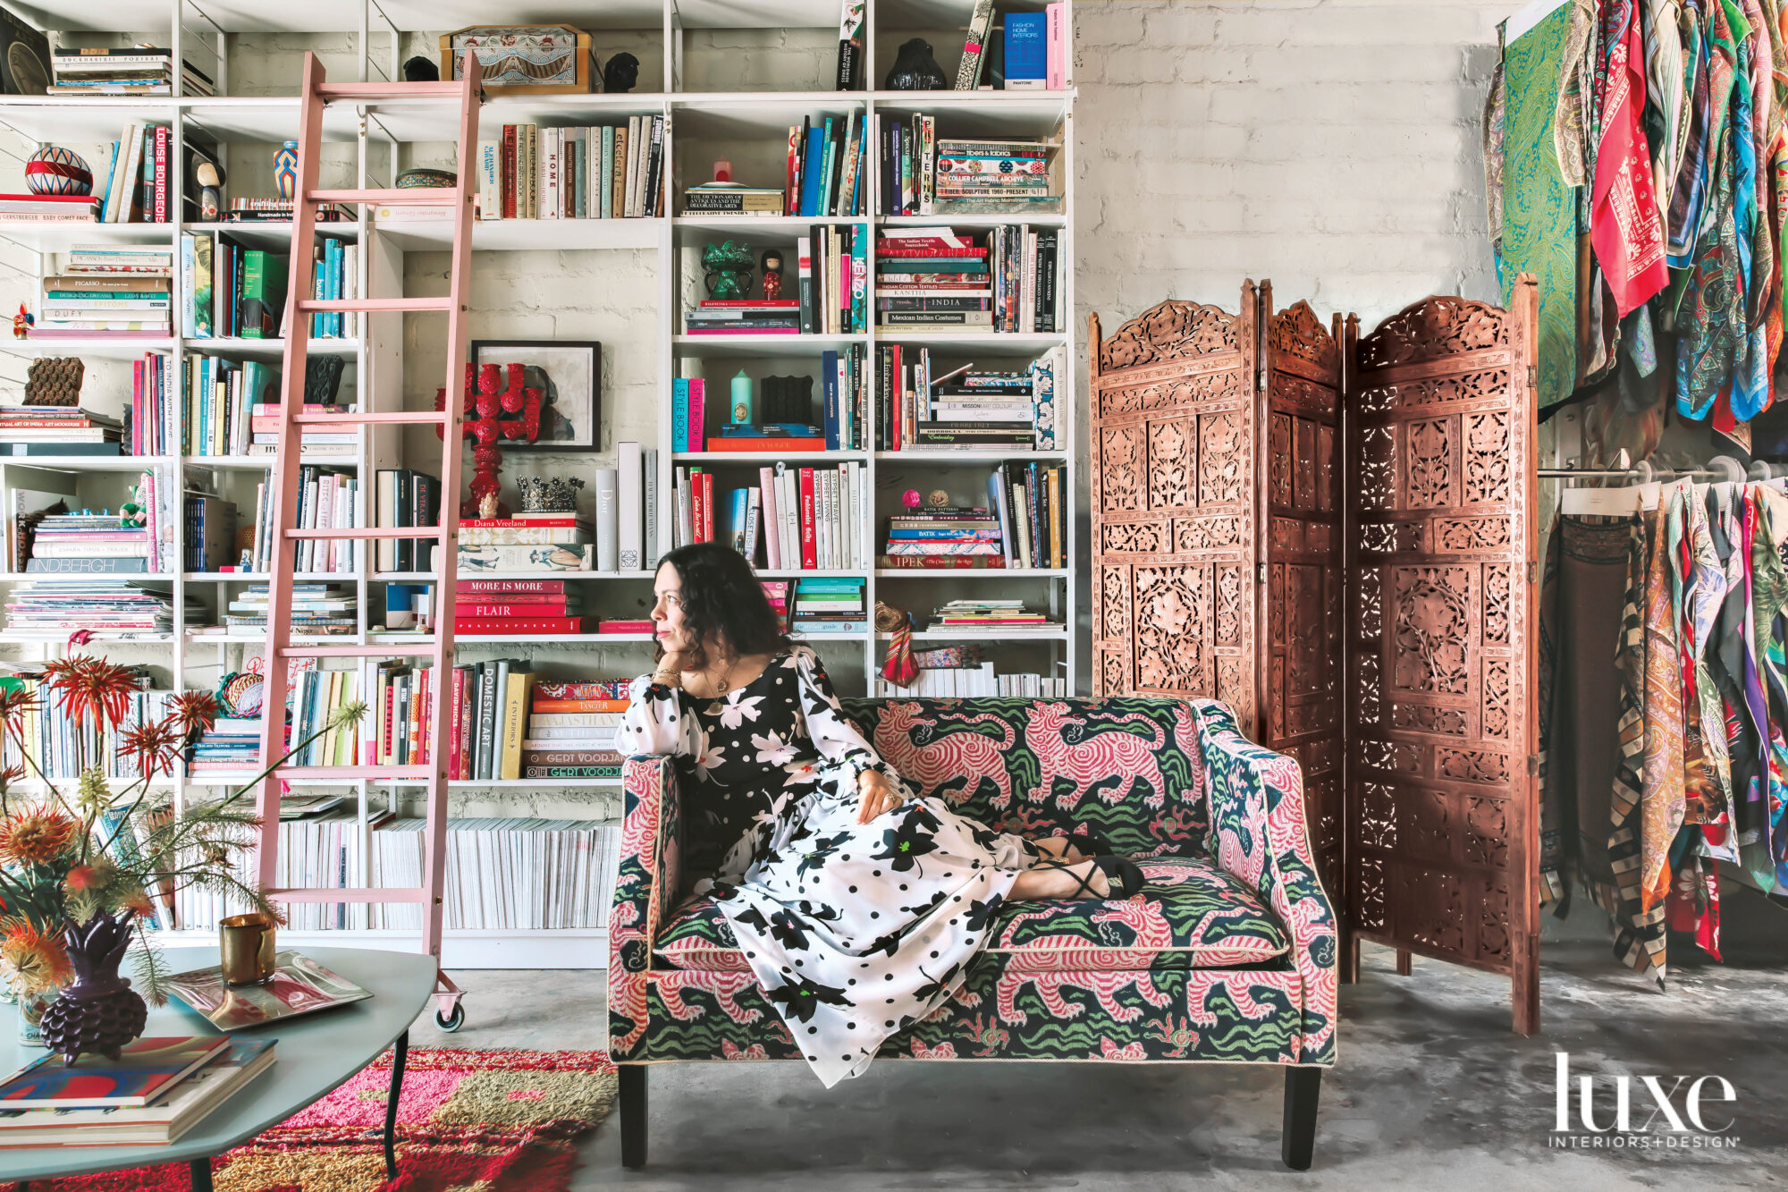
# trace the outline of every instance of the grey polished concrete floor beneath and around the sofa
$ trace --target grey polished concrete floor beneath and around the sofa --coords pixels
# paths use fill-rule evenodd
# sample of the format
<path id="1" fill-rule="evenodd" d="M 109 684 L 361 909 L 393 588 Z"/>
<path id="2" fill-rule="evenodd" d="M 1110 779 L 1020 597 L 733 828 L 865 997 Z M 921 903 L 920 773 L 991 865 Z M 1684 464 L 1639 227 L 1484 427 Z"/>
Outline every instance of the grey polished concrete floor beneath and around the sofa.
<path id="1" fill-rule="evenodd" d="M 645 1171 L 620 1167 L 617 1110 L 574 1188 L 1788 1187 L 1788 909 L 1724 909 L 1725 963 L 1674 947 L 1668 993 L 1615 963 L 1593 907 L 1547 918 L 1534 1038 L 1509 1031 L 1505 981 L 1423 959 L 1398 977 L 1368 945 L 1307 1174 L 1280 1167 L 1284 1077 L 1261 1067 L 878 1063 L 828 1094 L 799 1065 L 701 1063 L 651 1070 Z M 601 974 L 456 977 L 467 1026 L 424 1018 L 415 1045 L 603 1047 Z M 1573 1072 L 1727 1077 L 1738 1101 L 1709 1117 L 1736 1115 L 1738 1145 L 1548 1149 L 1557 1051 Z"/>

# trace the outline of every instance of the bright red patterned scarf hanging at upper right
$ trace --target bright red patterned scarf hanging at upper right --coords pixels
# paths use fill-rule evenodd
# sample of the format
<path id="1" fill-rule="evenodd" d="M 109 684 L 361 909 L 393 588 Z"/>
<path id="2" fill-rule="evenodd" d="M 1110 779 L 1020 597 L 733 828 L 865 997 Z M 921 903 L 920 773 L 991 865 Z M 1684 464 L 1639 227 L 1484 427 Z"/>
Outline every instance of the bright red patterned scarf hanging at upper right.
<path id="1" fill-rule="evenodd" d="M 1590 243 L 1615 295 L 1615 317 L 1649 301 L 1670 281 L 1665 267 L 1657 190 L 1640 115 L 1645 107 L 1645 50 L 1634 0 L 1607 0 L 1609 57 L 1602 98 L 1602 141 L 1595 158 Z"/>

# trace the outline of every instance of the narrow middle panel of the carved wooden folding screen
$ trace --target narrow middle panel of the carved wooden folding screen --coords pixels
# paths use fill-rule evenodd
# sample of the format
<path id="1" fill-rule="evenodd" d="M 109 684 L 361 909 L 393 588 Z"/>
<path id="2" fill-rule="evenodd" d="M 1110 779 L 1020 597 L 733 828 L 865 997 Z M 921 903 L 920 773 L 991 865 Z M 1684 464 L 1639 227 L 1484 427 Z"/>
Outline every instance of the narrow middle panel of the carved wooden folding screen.
<path id="1" fill-rule="evenodd" d="M 1261 743 L 1298 759 L 1323 884 L 1341 890 L 1341 319 L 1261 283 L 1266 583 Z"/>

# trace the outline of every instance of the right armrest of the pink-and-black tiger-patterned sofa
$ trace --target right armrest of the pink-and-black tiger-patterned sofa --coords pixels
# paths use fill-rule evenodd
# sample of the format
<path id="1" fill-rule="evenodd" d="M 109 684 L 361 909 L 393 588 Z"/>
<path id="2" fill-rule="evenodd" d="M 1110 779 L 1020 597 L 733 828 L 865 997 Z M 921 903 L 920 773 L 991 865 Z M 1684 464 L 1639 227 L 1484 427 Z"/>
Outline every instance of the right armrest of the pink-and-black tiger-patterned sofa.
<path id="1" fill-rule="evenodd" d="M 1252 886 L 1291 932 L 1291 959 L 1303 979 L 1298 1063 L 1336 1060 L 1337 932 L 1334 906 L 1316 877 L 1303 820 L 1303 771 L 1284 754 L 1248 741 L 1236 712 L 1218 700 L 1193 700 L 1210 852 L 1227 873 Z"/>

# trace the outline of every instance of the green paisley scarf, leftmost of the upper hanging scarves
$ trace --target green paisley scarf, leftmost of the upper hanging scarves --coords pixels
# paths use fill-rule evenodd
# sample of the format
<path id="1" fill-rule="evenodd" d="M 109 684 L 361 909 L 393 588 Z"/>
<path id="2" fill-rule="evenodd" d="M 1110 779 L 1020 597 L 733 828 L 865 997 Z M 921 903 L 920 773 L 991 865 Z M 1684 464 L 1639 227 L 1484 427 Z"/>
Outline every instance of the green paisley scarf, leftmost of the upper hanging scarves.
<path id="1" fill-rule="evenodd" d="M 1577 374 L 1577 220 L 1552 129 L 1568 13 L 1554 9 L 1504 52 L 1502 297 L 1511 301 L 1518 274 L 1539 283 L 1541 410 L 1570 397 Z"/>

